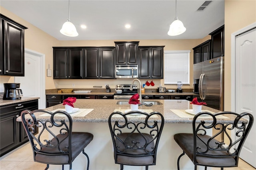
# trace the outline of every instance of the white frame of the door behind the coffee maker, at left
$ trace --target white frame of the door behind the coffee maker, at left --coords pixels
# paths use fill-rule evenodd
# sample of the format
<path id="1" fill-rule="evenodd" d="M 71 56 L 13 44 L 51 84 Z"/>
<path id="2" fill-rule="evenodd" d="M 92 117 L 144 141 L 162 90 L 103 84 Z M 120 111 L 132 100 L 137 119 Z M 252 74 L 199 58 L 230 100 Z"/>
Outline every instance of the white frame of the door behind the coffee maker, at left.
<path id="1" fill-rule="evenodd" d="M 43 53 L 39 53 L 37 51 L 33 51 L 33 50 L 30 50 L 30 49 L 24 49 L 24 53 L 25 53 L 25 56 L 26 54 L 29 54 L 29 55 L 33 55 L 33 56 L 36 56 L 36 57 L 39 57 L 40 59 L 40 75 L 36 75 L 36 76 L 40 76 L 40 96 L 38 96 L 40 99 L 38 100 L 38 109 L 44 109 L 45 106 L 46 106 L 46 96 L 45 96 L 45 54 Z M 25 75 L 26 76 L 26 75 Z M 14 78 L 14 81 L 15 81 L 15 78 Z"/>

